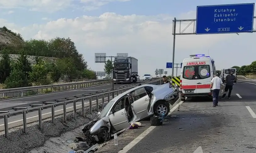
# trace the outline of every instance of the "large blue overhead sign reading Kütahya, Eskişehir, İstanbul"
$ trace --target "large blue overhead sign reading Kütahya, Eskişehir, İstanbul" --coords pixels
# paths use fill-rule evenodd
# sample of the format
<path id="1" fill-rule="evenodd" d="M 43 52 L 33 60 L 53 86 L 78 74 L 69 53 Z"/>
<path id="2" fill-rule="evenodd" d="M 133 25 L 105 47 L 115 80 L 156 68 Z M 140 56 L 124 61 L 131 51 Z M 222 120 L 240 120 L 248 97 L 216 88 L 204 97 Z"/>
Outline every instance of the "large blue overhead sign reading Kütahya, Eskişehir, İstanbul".
<path id="1" fill-rule="evenodd" d="M 196 34 L 252 33 L 254 3 L 197 6 Z"/>

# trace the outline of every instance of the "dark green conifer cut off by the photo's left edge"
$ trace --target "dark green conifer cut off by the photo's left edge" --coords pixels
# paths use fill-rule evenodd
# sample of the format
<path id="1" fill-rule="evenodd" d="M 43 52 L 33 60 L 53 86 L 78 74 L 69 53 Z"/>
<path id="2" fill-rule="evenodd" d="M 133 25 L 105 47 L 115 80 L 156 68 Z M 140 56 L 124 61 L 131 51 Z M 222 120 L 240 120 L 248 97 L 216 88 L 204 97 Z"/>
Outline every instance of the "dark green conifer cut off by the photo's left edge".
<path id="1" fill-rule="evenodd" d="M 0 83 L 4 83 L 6 78 L 9 77 L 12 67 L 9 57 L 9 51 L 4 49 L 1 51 L 1 61 L 0 61 Z"/>

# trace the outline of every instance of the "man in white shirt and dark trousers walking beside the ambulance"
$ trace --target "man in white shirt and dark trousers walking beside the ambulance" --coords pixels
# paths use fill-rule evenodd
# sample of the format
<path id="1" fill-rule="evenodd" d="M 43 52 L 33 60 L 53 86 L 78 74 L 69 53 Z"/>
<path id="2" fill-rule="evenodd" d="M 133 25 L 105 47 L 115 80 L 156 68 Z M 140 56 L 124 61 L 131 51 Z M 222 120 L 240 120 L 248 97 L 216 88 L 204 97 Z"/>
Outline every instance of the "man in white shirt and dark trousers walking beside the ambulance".
<path id="1" fill-rule="evenodd" d="M 214 74 L 214 78 L 212 79 L 211 86 L 210 86 L 210 91 L 212 91 L 212 94 L 213 94 L 213 107 L 218 106 L 219 90 L 220 90 L 221 84 L 223 84 L 222 80 L 219 78 L 217 74 Z"/>

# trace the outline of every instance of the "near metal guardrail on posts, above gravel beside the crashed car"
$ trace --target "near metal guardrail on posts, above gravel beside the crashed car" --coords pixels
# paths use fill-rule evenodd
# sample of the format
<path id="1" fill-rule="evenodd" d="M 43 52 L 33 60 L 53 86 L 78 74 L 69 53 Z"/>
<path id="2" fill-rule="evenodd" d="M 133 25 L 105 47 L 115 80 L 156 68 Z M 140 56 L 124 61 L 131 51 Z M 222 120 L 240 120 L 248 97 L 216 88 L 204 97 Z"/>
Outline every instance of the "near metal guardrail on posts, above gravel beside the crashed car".
<path id="1" fill-rule="evenodd" d="M 160 79 L 159 80 L 154 80 L 150 81 L 147 83 L 142 83 L 142 84 L 160 84 Z M 10 116 L 16 116 L 16 115 L 23 115 L 23 132 L 27 134 L 27 120 L 26 120 L 26 114 L 31 111 L 36 111 L 38 110 L 38 120 L 39 120 L 39 129 L 42 130 L 42 110 L 45 108 L 51 108 L 51 114 L 52 114 L 52 123 L 55 123 L 55 107 L 58 105 L 63 105 L 63 122 L 67 122 L 67 117 L 66 117 L 66 105 L 69 103 L 73 103 L 73 113 L 74 113 L 74 120 L 77 119 L 76 116 L 76 103 L 78 101 L 82 101 L 82 116 L 85 117 L 85 105 L 84 105 L 84 100 L 89 99 L 89 107 L 90 107 L 90 113 L 92 113 L 92 98 L 96 97 L 96 110 L 99 111 L 99 97 L 102 97 L 102 104 L 104 103 L 105 95 L 108 95 L 108 102 L 110 101 L 110 95 L 115 95 L 115 93 L 118 95 L 120 92 L 123 93 L 129 89 L 134 88 L 135 86 L 130 86 L 126 87 L 123 89 L 117 89 L 117 90 L 112 90 L 112 91 L 107 91 L 104 93 L 97 93 L 97 94 L 89 94 L 89 95 L 82 95 L 81 97 L 78 98 L 71 98 L 71 100 L 63 100 L 61 102 L 46 102 L 43 104 L 30 104 L 31 108 L 27 107 L 13 107 L 13 111 L 0 111 L 0 117 L 4 118 L 4 131 L 5 131 L 5 137 L 8 139 L 9 138 L 9 126 L 8 126 L 8 118 Z M 114 97 L 113 97 L 114 98 Z"/>

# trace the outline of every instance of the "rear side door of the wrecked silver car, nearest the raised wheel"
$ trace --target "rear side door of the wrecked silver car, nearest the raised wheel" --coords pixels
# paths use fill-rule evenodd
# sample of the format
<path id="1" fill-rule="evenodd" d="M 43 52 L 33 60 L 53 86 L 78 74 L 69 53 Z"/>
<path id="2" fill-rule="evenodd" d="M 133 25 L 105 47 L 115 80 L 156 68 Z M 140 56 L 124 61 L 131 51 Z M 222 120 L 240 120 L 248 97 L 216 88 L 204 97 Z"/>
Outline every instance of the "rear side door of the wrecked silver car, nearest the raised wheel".
<path id="1" fill-rule="evenodd" d="M 134 109 L 135 115 L 139 119 L 144 119 L 148 117 L 148 105 L 150 102 L 150 98 L 144 87 L 134 90 L 132 93 L 132 97 L 134 102 L 132 103 L 132 107 Z"/>

